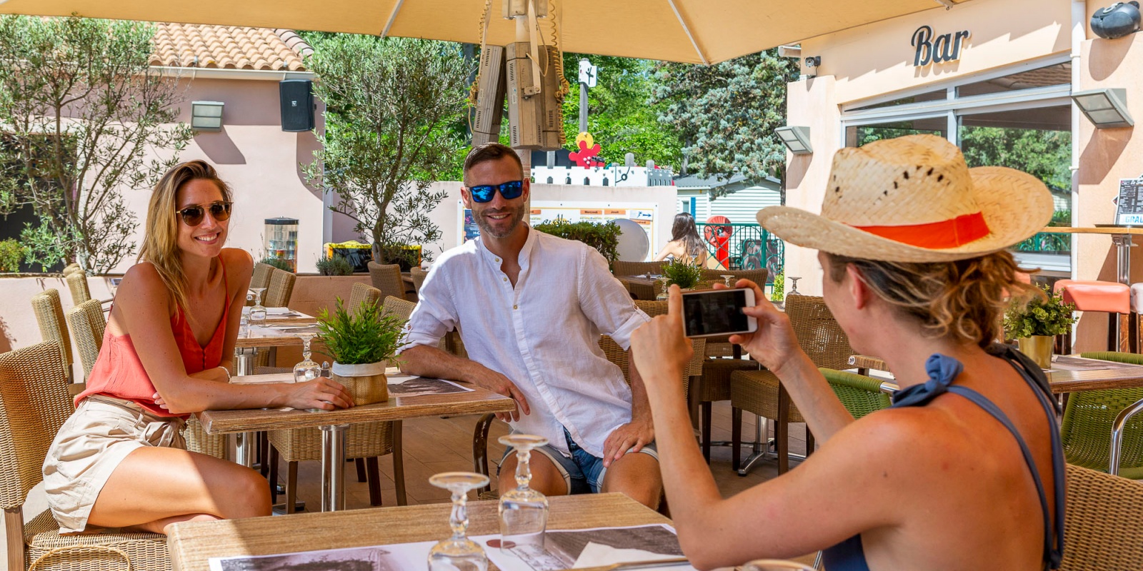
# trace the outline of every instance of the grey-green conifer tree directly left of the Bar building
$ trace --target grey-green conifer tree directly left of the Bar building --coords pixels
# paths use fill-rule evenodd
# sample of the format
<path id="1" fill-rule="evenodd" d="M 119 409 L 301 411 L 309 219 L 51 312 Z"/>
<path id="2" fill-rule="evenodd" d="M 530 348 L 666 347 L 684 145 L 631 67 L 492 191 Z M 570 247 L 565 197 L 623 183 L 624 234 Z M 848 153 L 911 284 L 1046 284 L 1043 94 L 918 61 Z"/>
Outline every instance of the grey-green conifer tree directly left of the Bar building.
<path id="1" fill-rule="evenodd" d="M 776 49 L 714 65 L 660 63 L 650 102 L 684 142 L 685 170 L 782 178 L 785 146 L 774 129 L 785 124 L 786 83 L 797 75 L 797 61 Z"/>

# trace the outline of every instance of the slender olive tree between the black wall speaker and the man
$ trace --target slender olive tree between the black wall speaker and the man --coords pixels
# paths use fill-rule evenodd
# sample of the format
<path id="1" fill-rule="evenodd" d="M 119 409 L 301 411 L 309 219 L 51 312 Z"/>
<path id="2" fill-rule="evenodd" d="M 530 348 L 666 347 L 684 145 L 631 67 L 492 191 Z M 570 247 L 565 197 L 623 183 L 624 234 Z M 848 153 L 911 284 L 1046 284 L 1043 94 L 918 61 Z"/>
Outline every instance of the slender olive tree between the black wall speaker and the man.
<path id="1" fill-rule="evenodd" d="M 457 46 L 405 38 L 311 35 L 307 66 L 326 103 L 326 130 L 306 178 L 338 194 L 331 206 L 369 236 L 374 259 L 440 239 L 429 186 L 465 145 L 448 128 L 464 113 L 469 67 Z M 427 254 L 427 252 L 425 252 Z"/>

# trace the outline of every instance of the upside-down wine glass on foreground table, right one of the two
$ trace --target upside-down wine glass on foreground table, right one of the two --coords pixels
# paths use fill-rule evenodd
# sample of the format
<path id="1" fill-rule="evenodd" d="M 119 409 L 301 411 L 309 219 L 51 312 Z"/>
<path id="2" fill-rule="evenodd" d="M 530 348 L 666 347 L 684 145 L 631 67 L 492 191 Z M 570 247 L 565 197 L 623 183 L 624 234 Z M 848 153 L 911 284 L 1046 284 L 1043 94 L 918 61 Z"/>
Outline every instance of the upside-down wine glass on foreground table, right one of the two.
<path id="1" fill-rule="evenodd" d="M 531 434 L 501 436 L 499 443 L 515 449 L 515 489 L 499 499 L 501 550 L 513 547 L 542 553 L 547 526 L 547 497 L 528 488 L 531 450 L 547 444 L 547 439 Z"/>

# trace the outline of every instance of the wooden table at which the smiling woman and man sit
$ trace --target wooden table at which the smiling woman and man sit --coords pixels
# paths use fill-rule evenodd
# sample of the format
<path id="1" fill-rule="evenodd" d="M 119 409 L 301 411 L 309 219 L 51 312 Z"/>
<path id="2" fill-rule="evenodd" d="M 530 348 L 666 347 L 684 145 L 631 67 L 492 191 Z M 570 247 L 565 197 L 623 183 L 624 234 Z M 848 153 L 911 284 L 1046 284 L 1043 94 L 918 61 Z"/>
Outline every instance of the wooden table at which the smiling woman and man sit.
<path id="1" fill-rule="evenodd" d="M 235 377 L 233 381 L 250 379 Z M 281 428 L 321 428 L 321 510 L 345 509 L 345 428 L 353 423 L 406 418 L 509 412 L 515 402 L 473 387 L 465 393 L 390 399 L 376 404 L 322 412 L 280 409 L 207 410 L 197 412 L 207 434 L 253 434 Z M 394 445 L 399 445 L 394 442 Z M 239 455 L 241 457 L 241 455 Z M 249 456 L 249 455 L 248 455 Z M 393 469 L 399 469 L 397 466 Z"/>

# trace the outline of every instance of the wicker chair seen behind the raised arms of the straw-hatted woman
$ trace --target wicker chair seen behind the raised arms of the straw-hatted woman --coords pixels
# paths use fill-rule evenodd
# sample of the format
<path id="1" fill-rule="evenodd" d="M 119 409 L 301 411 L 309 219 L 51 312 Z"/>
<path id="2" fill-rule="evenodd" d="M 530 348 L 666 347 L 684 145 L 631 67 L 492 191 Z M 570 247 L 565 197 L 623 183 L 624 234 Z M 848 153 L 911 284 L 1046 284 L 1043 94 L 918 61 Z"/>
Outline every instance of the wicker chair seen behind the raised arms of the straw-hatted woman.
<path id="1" fill-rule="evenodd" d="M 801 349 L 809 355 L 810 361 L 817 367 L 828 369 L 846 369 L 849 367 L 849 355 L 853 349 L 849 347 L 849 338 L 838 325 L 833 314 L 825 306 L 825 300 L 820 297 L 790 295 L 785 299 L 785 313 L 790 316 L 794 336 Z M 753 412 L 762 418 L 774 420 L 774 440 L 776 441 L 778 455 L 778 473 L 782 474 L 790 467 L 789 459 L 789 423 L 804 423 L 801 412 L 791 402 L 789 411 L 780 408 L 778 401 L 788 402 L 788 397 L 782 397 L 785 392 L 778 384 L 777 377 L 769 371 L 735 371 L 730 373 L 730 405 L 732 405 L 732 464 L 738 469 L 741 442 L 742 442 L 742 411 Z M 785 413 L 789 412 L 789 418 Z M 814 450 L 814 436 L 806 429 L 806 452 Z M 741 474 L 741 472 L 740 472 Z"/>

